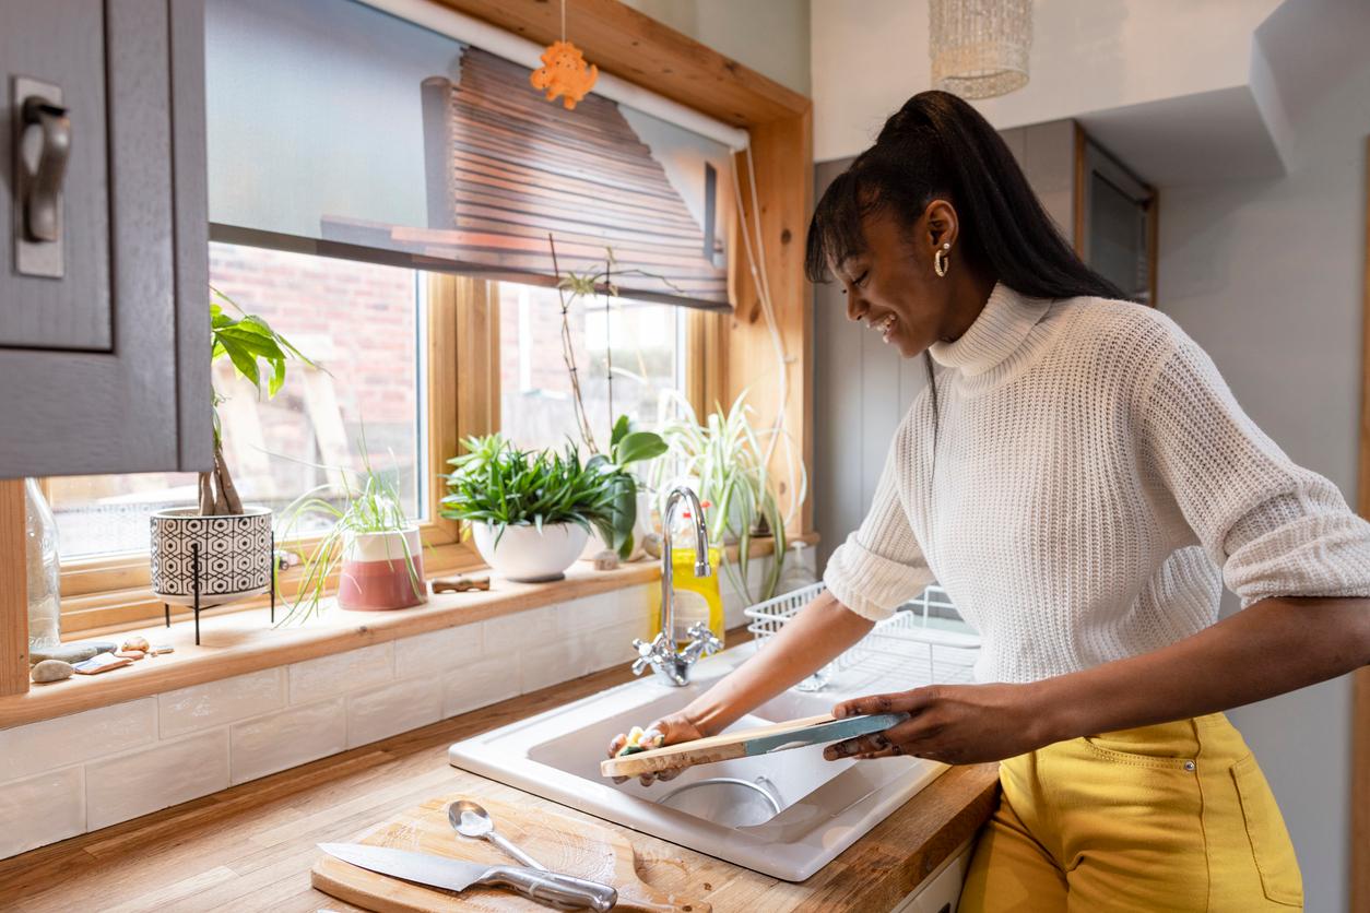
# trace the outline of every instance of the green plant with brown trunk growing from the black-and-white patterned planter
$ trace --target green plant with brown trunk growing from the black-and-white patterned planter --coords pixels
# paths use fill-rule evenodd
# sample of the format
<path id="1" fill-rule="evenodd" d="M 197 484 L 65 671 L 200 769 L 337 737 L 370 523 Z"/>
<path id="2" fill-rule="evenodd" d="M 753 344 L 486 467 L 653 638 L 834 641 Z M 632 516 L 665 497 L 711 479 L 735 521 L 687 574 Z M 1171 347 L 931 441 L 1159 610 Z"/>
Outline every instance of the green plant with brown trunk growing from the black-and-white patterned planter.
<path id="1" fill-rule="evenodd" d="M 256 387 L 262 396 L 263 381 L 266 398 L 273 398 L 285 385 L 288 359 L 296 359 L 310 367 L 318 367 L 304 357 L 299 349 L 271 329 L 262 318 L 247 313 L 233 298 L 210 286 L 210 361 L 227 359 L 233 371 Z M 222 303 L 222 304 L 221 304 Z M 233 311 L 225 309 L 227 305 Z M 214 470 L 200 474 L 200 513 L 222 516 L 242 513 L 242 500 L 238 497 L 227 463 L 223 460 L 223 426 L 219 422 L 219 404 L 225 397 L 211 389 L 214 407 Z"/>

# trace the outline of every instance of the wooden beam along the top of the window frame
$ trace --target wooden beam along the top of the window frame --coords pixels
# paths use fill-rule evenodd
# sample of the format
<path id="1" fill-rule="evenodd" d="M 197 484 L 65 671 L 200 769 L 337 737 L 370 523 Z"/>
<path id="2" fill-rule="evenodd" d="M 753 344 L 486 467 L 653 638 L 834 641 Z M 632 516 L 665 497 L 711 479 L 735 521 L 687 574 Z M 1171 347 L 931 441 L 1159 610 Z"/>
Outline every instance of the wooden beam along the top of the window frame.
<path id="1" fill-rule="evenodd" d="M 433 0 L 537 44 L 562 37 L 545 0 Z M 785 120 L 810 101 L 619 0 L 566 0 L 566 37 L 604 73 L 738 127 Z"/>

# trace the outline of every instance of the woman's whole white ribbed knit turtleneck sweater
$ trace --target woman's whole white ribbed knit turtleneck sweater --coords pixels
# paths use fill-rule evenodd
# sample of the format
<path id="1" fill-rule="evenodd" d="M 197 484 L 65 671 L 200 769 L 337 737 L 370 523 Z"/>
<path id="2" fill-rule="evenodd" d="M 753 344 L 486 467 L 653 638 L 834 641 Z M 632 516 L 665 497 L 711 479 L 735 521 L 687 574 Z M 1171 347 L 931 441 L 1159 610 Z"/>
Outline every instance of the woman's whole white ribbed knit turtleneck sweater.
<path id="1" fill-rule="evenodd" d="M 1200 631 L 1223 582 L 1244 606 L 1370 595 L 1370 524 L 1163 313 L 1000 285 L 932 355 L 938 430 L 925 390 L 827 563 L 854 612 L 886 617 L 937 580 L 981 634 L 975 678 L 1033 682 Z"/>

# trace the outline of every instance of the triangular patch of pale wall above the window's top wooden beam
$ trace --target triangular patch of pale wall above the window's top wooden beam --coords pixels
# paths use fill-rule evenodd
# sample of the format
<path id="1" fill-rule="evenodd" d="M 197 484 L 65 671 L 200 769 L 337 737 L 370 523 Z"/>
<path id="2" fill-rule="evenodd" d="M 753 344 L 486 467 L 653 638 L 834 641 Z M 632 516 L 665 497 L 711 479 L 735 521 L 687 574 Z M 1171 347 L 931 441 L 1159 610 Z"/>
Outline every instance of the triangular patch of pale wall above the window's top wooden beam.
<path id="1" fill-rule="evenodd" d="M 808 0 L 623 3 L 795 92 L 808 94 Z"/>

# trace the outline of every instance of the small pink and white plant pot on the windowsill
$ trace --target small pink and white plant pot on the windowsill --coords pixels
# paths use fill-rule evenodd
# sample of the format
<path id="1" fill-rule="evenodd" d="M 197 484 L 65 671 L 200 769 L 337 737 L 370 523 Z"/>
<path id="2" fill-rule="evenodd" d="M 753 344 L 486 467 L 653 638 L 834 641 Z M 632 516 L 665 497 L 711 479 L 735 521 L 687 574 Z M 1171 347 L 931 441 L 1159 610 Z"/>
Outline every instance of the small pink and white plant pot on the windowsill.
<path id="1" fill-rule="evenodd" d="M 338 608 L 385 612 L 427 602 L 418 527 L 348 538 L 338 575 Z"/>

